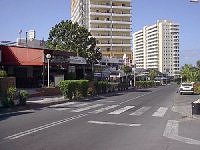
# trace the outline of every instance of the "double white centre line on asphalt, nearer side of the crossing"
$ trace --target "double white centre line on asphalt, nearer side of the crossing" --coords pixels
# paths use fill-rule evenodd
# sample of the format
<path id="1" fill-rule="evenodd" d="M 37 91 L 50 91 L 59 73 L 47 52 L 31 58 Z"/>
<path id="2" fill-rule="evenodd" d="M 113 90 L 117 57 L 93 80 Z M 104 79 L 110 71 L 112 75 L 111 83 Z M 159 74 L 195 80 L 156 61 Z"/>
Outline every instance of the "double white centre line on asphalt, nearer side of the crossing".
<path id="1" fill-rule="evenodd" d="M 43 126 L 39 126 L 37 128 L 33 128 L 33 129 L 26 130 L 26 131 L 23 131 L 23 132 L 20 132 L 20 133 L 17 133 L 17 134 L 13 134 L 11 136 L 5 137 L 4 139 L 14 140 L 14 139 L 20 138 L 22 136 L 32 134 L 32 133 L 35 133 L 35 132 L 56 126 L 56 125 L 60 125 L 60 124 L 63 124 L 65 122 L 68 122 L 68 121 L 71 121 L 71 120 L 82 118 L 84 116 L 87 116 L 87 114 L 80 114 L 80 115 L 73 116 L 73 117 L 70 117 L 70 118 L 66 118 L 66 119 L 63 119 L 63 120 L 55 121 L 55 122 L 52 122 L 52 123 L 49 123 L 49 124 L 46 124 L 46 125 L 43 125 Z"/>

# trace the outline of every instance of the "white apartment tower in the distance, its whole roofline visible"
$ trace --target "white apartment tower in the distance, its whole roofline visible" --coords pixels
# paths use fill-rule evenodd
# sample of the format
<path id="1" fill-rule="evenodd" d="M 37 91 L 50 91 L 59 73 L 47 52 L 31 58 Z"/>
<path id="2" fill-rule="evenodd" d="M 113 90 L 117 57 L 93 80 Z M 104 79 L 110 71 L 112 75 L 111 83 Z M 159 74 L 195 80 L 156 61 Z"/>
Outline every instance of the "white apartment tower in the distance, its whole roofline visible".
<path id="1" fill-rule="evenodd" d="M 179 74 L 179 25 L 168 20 L 157 21 L 133 34 L 134 59 L 137 68 L 157 69 L 169 76 Z"/>

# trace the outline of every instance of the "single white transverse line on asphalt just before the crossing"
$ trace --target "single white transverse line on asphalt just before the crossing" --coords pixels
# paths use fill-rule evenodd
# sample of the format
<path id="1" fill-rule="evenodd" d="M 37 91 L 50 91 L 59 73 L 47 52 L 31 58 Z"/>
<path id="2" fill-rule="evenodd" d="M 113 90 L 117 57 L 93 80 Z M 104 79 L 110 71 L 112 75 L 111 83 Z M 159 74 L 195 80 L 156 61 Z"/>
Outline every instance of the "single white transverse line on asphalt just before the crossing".
<path id="1" fill-rule="evenodd" d="M 101 124 L 101 125 L 127 126 L 127 127 L 139 127 L 139 126 L 141 126 L 141 124 L 115 123 L 115 122 L 103 122 L 103 121 L 88 121 L 88 123 Z"/>

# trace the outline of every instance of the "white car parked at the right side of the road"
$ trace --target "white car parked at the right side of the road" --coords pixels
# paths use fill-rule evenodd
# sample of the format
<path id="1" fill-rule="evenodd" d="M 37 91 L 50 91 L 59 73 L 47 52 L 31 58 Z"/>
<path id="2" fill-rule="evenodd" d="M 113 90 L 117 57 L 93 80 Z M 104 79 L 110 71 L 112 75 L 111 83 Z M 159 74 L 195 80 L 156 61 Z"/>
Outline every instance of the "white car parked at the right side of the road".
<path id="1" fill-rule="evenodd" d="M 194 86 L 192 83 L 182 83 L 179 89 L 180 95 L 182 94 L 194 94 Z"/>

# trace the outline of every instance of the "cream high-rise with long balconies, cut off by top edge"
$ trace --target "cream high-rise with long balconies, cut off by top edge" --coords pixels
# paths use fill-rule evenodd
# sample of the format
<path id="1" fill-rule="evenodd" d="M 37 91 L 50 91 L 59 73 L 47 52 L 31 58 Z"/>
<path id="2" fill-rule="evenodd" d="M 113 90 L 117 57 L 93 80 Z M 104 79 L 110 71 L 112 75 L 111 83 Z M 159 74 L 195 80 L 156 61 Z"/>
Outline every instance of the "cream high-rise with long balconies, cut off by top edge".
<path id="1" fill-rule="evenodd" d="M 72 0 L 71 20 L 97 39 L 103 56 L 132 60 L 131 0 Z"/>

